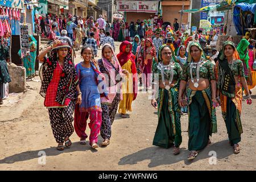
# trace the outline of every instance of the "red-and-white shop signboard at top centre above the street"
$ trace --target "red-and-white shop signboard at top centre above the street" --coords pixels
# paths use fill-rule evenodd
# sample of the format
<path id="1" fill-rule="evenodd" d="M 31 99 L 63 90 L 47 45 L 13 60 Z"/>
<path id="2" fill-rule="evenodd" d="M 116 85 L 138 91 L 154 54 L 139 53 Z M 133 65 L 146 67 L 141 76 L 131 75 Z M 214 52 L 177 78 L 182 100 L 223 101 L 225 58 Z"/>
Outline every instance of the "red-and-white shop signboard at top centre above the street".
<path id="1" fill-rule="evenodd" d="M 157 13 L 158 2 L 155 1 L 117 1 L 118 11 Z"/>

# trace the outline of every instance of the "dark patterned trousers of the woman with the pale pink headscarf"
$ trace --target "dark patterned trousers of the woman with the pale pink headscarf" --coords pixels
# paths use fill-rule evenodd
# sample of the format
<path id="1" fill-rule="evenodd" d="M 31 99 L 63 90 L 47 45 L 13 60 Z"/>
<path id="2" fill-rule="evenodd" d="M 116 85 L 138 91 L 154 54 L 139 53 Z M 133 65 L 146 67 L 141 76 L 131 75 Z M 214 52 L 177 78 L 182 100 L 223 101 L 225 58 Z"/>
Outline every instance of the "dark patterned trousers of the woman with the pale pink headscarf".
<path id="1" fill-rule="evenodd" d="M 110 139 L 111 125 L 114 122 L 115 114 L 117 113 L 118 104 L 120 101 L 120 94 L 117 93 L 112 104 L 101 104 L 102 109 L 102 124 L 101 124 L 101 137 L 103 139 Z"/>

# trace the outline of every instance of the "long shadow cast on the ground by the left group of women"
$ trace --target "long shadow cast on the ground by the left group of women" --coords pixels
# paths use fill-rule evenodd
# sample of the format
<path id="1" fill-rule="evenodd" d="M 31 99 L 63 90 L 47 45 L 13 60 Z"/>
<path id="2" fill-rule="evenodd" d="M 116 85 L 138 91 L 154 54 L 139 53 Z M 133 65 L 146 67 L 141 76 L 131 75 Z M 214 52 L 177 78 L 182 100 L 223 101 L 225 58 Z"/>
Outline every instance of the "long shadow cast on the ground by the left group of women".
<path id="1" fill-rule="evenodd" d="M 92 152 L 97 152 L 97 148 L 93 149 L 89 145 L 89 141 L 86 141 L 86 142 L 87 142 L 87 144 L 85 144 L 85 145 L 82 145 L 79 142 L 75 142 L 72 144 L 72 146 L 70 148 L 65 147 L 64 151 L 58 151 L 58 150 L 56 150 L 56 147 L 50 147 L 50 148 L 43 148 L 41 150 L 22 152 L 20 154 L 15 154 L 12 156 L 8 156 L 4 159 L 1 159 L 0 164 L 12 164 L 15 162 L 21 162 L 21 161 L 39 158 L 41 155 L 38 155 L 38 154 L 39 154 L 39 152 L 40 152 L 40 154 L 42 154 L 41 153 L 42 151 L 46 152 L 46 156 L 57 156 L 60 154 L 71 153 L 71 152 L 75 152 L 75 151 L 90 150 Z M 103 139 L 99 137 L 98 143 L 101 143 L 101 142 L 103 142 Z"/>

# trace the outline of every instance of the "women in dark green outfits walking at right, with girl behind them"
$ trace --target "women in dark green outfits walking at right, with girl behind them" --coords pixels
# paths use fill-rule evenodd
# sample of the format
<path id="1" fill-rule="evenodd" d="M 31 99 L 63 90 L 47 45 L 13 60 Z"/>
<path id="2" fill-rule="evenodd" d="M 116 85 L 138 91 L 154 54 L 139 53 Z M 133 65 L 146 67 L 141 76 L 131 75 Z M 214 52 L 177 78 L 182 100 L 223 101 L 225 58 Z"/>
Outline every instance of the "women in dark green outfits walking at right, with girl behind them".
<path id="1" fill-rule="evenodd" d="M 233 42 L 225 42 L 215 67 L 206 59 L 199 43 L 191 42 L 188 51 L 185 60 L 185 47 L 180 47 L 177 54 L 181 57 L 174 60 L 169 46 L 163 45 L 159 49 L 159 63 L 152 68 L 155 74 L 151 105 L 158 108 L 159 121 L 153 144 L 165 148 L 174 146 L 174 154 L 179 154 L 181 109 L 187 107 L 188 150 L 191 151 L 188 159 L 194 159 L 211 143 L 212 133 L 217 133 L 215 107 L 221 105 L 229 143 L 234 153 L 239 153 L 238 143 L 243 132 L 242 88 L 247 104 L 252 101 L 236 47 Z M 155 88 L 159 88 L 158 102 Z"/>

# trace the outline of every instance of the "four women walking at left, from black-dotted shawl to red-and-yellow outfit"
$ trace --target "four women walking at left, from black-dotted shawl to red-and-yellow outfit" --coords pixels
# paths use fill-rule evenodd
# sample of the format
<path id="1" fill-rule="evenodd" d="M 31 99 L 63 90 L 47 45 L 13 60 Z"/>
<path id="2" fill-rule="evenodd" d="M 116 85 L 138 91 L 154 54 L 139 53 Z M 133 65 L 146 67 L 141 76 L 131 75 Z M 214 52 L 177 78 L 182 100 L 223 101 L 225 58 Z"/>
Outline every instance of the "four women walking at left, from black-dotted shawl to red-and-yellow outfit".
<path id="1" fill-rule="evenodd" d="M 51 52 L 48 58 L 45 57 L 47 52 Z M 80 143 L 86 144 L 88 118 L 90 146 L 99 147 L 99 133 L 104 139 L 101 145 L 107 146 L 119 102 L 119 113 L 125 118 L 126 111 L 131 111 L 131 102 L 136 98 L 137 86 L 133 85 L 137 84 L 137 77 L 133 75 L 137 72 L 129 42 L 121 44 L 117 56 L 110 44 L 102 47 L 100 60 L 94 60 L 93 56 L 92 47 L 82 47 L 83 61 L 75 66 L 72 48 L 60 40 L 39 54 L 39 60 L 43 62 L 40 94 L 45 98 L 44 106 L 48 109 L 53 135 L 58 143 L 57 150 L 64 150 L 64 144 L 71 146 L 69 137 L 74 131 L 73 121 Z M 74 111 L 75 118 L 72 116 Z"/>

